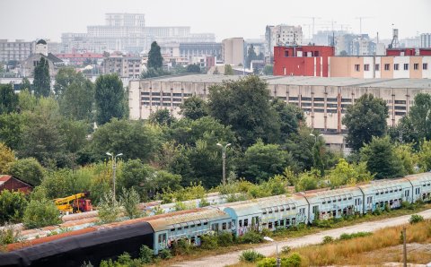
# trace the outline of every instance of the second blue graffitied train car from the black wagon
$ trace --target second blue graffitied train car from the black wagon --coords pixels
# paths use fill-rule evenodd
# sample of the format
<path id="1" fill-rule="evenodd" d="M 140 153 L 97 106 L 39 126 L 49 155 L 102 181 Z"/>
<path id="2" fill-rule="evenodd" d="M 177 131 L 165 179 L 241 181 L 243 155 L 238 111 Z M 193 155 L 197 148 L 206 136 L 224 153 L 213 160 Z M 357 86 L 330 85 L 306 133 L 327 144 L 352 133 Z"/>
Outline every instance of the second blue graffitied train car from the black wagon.
<path id="1" fill-rule="evenodd" d="M 288 228 L 308 221 L 308 203 L 301 195 L 276 195 L 226 205 L 232 218 L 233 234 L 242 236 L 250 229 Z"/>

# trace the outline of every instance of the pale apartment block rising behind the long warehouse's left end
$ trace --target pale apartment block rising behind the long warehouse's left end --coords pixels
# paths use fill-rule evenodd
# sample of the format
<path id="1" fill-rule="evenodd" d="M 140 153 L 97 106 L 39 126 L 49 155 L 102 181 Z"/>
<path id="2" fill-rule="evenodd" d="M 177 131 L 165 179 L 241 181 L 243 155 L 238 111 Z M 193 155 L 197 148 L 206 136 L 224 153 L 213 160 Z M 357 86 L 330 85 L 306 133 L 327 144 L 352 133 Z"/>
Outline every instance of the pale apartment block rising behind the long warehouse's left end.
<path id="1" fill-rule="evenodd" d="M 139 56 L 111 55 L 102 63 L 103 73 L 117 73 L 121 78 L 137 79 L 143 71 L 142 58 Z"/>

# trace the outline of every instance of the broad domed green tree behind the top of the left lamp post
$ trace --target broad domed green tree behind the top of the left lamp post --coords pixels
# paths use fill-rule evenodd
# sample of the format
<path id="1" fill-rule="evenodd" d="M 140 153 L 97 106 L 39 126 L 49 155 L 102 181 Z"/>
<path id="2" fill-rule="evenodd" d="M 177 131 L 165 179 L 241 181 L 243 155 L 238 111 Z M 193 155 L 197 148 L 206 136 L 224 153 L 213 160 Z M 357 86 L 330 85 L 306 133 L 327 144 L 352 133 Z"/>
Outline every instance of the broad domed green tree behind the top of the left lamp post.
<path id="1" fill-rule="evenodd" d="M 106 151 L 123 153 L 123 159 L 154 159 L 163 143 L 162 129 L 142 121 L 113 119 L 92 135 L 92 159 L 106 159 Z"/>

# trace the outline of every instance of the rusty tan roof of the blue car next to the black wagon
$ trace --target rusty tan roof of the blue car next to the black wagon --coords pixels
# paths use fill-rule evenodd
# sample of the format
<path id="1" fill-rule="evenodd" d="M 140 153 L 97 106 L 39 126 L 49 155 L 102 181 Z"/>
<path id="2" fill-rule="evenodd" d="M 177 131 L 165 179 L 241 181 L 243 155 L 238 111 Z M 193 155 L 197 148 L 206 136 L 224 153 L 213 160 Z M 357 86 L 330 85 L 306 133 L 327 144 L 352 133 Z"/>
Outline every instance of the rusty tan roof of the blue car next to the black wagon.
<path id="1" fill-rule="evenodd" d="M 198 209 L 194 212 L 170 213 L 170 216 L 148 217 L 146 221 L 154 228 L 154 232 L 163 231 L 171 228 L 180 228 L 192 224 L 205 223 L 214 220 L 230 219 L 224 211 L 216 208 Z"/>

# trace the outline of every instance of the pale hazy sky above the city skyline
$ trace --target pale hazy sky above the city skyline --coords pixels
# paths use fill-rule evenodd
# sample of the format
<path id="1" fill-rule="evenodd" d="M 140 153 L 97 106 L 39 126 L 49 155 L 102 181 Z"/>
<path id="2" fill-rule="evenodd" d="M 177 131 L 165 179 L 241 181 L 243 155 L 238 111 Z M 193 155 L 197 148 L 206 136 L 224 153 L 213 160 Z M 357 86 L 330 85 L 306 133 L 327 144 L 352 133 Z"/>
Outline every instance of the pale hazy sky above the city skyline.
<path id="1" fill-rule="evenodd" d="M 431 32 L 430 0 L 0 0 L 0 39 L 51 39 L 62 32 L 86 32 L 87 25 L 102 25 L 104 13 L 145 13 L 147 26 L 190 26 L 191 32 L 214 32 L 216 39 L 259 38 L 266 25 L 303 25 L 308 37 L 312 19 L 315 31 L 348 24 L 372 37 L 391 37 L 392 23 L 400 39 Z M 337 22 L 337 23 L 335 23 Z M 319 25 L 326 23 L 326 25 Z M 343 26 L 346 29 L 346 26 Z M 311 30 L 311 28 L 310 28 Z"/>

